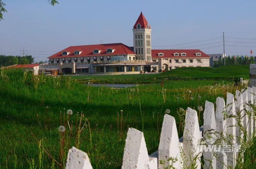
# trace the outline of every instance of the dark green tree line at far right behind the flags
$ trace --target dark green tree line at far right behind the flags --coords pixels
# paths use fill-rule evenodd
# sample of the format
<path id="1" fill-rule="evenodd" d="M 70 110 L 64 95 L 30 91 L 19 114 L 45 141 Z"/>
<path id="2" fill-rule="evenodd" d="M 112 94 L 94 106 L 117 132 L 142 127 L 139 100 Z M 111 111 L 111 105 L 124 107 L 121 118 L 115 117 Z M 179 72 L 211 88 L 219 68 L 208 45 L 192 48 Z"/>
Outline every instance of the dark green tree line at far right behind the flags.
<path id="1" fill-rule="evenodd" d="M 254 64 L 253 56 L 229 56 L 225 59 L 226 65 L 249 65 Z M 213 67 L 219 67 L 224 65 L 224 58 L 219 58 L 219 61 L 213 61 Z"/>

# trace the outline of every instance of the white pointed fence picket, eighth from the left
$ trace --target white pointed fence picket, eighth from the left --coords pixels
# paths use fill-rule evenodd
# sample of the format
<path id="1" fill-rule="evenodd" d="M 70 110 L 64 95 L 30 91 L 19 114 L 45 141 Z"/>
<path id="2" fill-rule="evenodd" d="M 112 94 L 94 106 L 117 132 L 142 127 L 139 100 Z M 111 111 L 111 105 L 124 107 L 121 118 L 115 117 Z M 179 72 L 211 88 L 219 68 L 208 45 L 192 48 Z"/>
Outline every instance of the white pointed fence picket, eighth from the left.
<path id="1" fill-rule="evenodd" d="M 240 91 L 236 90 L 236 144 L 241 144 L 244 139 L 244 102 L 243 95 Z"/>

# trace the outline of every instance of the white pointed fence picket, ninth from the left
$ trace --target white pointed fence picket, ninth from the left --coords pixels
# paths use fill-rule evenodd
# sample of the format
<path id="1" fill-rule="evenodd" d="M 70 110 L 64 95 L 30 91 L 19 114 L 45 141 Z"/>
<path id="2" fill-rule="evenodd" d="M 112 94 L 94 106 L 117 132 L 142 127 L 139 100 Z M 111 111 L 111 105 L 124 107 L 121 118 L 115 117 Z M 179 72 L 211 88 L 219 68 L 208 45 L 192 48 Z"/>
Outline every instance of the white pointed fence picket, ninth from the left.
<path id="1" fill-rule="evenodd" d="M 248 107 L 248 95 L 247 95 L 247 90 L 242 89 L 242 95 L 243 95 L 243 102 L 244 102 L 244 130 L 246 131 L 246 140 L 248 140 L 248 136 L 249 136 L 249 127 L 248 127 L 248 111 L 249 111 L 249 107 Z"/>

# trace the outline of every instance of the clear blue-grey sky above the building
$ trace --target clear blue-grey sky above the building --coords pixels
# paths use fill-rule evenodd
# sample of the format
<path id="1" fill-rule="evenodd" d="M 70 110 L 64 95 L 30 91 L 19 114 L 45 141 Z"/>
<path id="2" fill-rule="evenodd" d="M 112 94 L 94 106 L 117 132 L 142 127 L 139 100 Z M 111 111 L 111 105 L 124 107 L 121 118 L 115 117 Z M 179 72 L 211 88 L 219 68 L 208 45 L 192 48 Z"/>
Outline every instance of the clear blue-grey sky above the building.
<path id="1" fill-rule="evenodd" d="M 152 49 L 201 49 L 227 55 L 256 55 L 255 0 L 4 0 L 0 54 L 47 57 L 68 46 L 124 43 L 142 11 Z"/>

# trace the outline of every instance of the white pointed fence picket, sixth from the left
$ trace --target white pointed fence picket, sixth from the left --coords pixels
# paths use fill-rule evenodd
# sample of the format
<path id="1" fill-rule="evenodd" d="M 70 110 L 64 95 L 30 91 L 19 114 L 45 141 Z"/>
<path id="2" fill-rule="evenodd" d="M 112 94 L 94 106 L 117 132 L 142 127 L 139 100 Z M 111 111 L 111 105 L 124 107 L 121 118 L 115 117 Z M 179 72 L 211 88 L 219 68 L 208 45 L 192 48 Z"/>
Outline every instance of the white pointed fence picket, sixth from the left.
<path id="1" fill-rule="evenodd" d="M 221 137 L 226 137 L 227 133 L 227 123 L 224 117 L 224 113 L 226 113 L 226 104 L 225 100 L 221 97 L 216 99 L 216 135 L 219 139 Z M 222 139 L 221 139 L 222 143 Z M 227 168 L 227 154 L 221 152 L 217 152 L 217 168 Z"/>

